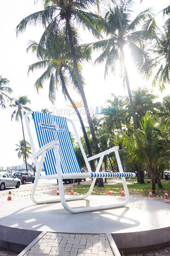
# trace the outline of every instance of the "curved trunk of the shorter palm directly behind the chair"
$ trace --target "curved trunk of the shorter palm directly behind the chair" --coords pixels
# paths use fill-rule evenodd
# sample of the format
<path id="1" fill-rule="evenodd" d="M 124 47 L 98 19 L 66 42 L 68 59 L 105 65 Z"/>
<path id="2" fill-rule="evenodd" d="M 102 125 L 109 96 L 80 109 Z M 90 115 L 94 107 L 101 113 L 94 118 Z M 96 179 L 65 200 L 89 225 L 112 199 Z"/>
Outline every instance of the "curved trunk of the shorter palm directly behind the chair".
<path id="1" fill-rule="evenodd" d="M 83 123 L 82 117 L 81 117 L 81 115 L 80 115 L 80 113 L 78 111 L 78 108 L 76 107 L 75 103 L 73 102 L 72 98 L 70 97 L 70 95 L 69 95 L 69 93 L 67 91 L 67 87 L 65 85 L 65 81 L 64 81 L 61 69 L 60 69 L 59 73 L 60 73 L 60 79 L 61 79 L 61 82 L 62 82 L 62 87 L 63 87 L 63 89 L 65 91 L 65 94 L 66 94 L 68 100 L 70 101 L 71 105 L 75 109 L 76 114 L 78 116 L 78 119 L 79 119 L 79 121 L 81 123 L 82 131 L 83 131 L 83 135 L 84 135 L 84 140 L 85 140 L 86 146 L 87 146 L 88 156 L 91 157 L 92 156 L 92 151 L 91 151 L 91 148 L 90 148 L 90 144 L 89 144 L 89 141 L 88 141 L 88 137 L 87 137 L 87 133 L 86 133 L 86 129 L 84 127 L 84 123 Z M 90 161 L 90 165 L 91 165 L 92 172 L 95 172 L 96 169 L 95 169 L 95 164 L 94 164 L 93 160 Z"/>

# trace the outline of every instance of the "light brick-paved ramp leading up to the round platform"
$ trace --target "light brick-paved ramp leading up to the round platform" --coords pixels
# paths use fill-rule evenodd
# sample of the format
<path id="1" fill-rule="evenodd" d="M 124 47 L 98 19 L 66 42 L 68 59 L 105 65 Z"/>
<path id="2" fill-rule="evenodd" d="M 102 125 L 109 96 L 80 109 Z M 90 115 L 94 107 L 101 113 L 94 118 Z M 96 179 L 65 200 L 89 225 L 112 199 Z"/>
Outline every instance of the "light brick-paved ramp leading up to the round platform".
<path id="1" fill-rule="evenodd" d="M 76 223 L 75 223 L 76 225 Z M 24 256 L 113 256 L 105 234 L 46 233 Z"/>

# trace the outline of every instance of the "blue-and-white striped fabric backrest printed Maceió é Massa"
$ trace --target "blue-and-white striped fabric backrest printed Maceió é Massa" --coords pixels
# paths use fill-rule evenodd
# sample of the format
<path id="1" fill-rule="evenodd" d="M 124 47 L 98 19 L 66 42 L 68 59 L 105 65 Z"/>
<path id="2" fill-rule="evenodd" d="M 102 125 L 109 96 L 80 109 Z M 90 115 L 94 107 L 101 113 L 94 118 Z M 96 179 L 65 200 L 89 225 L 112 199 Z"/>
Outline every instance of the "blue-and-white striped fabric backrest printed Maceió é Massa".
<path id="1" fill-rule="evenodd" d="M 81 172 L 77 156 L 71 141 L 65 117 L 33 112 L 32 114 L 38 137 L 39 147 L 59 140 L 60 165 L 62 173 Z M 54 148 L 45 156 L 44 170 L 46 175 L 57 174 Z"/>

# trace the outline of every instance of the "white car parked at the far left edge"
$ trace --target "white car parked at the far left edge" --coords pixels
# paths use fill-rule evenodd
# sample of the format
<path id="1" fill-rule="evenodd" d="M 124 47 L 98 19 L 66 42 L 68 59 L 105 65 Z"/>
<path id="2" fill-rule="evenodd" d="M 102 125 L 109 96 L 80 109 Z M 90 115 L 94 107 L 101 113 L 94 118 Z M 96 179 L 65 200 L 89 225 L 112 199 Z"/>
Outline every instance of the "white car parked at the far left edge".
<path id="1" fill-rule="evenodd" d="M 5 187 L 20 187 L 21 181 L 8 172 L 0 172 L 0 190 Z"/>

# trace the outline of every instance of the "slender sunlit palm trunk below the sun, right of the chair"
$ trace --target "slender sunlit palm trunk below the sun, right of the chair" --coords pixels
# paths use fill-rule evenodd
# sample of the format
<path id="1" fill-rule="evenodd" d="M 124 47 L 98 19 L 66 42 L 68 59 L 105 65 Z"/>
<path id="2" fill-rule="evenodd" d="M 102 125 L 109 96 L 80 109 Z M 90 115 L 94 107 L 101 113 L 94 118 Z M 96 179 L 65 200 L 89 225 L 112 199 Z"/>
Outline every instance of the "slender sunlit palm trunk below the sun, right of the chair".
<path id="1" fill-rule="evenodd" d="M 122 53 L 122 62 L 123 62 L 123 65 L 124 65 L 124 71 L 125 71 L 126 86 L 127 86 L 127 91 L 128 91 L 131 110 L 132 110 L 133 126 L 134 126 L 134 129 L 137 129 L 137 120 L 136 120 L 135 108 L 134 108 L 134 104 L 133 104 L 133 99 L 132 99 L 132 94 L 131 94 L 131 89 L 130 89 L 130 84 L 129 84 L 129 78 L 128 78 L 127 68 L 126 68 L 126 64 L 125 64 L 125 53 L 124 53 L 123 48 L 121 48 L 121 53 Z"/>

